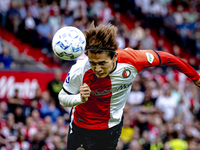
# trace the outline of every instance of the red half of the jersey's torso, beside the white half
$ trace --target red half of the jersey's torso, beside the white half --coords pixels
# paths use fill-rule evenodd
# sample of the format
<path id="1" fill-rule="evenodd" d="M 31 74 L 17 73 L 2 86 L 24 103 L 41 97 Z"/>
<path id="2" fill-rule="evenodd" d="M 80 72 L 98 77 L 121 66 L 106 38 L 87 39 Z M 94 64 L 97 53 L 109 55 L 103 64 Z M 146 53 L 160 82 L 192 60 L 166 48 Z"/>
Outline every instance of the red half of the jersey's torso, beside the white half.
<path id="1" fill-rule="evenodd" d="M 84 74 L 83 83 L 88 84 L 92 93 L 87 102 L 76 106 L 74 123 L 87 129 L 107 129 L 112 96 L 109 75 L 105 78 L 97 78 L 90 69 Z"/>

